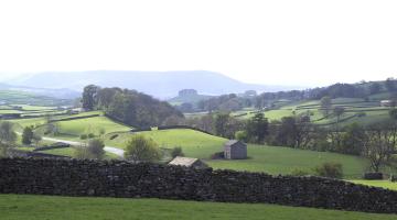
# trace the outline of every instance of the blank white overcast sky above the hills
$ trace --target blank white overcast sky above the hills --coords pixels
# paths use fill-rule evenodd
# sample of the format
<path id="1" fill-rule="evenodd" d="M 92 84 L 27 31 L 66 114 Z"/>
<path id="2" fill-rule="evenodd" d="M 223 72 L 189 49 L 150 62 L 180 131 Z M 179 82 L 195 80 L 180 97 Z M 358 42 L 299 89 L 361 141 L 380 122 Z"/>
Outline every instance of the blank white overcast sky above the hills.
<path id="1" fill-rule="evenodd" d="M 320 86 L 397 77 L 396 0 L 0 0 L 0 80 L 213 70 Z"/>

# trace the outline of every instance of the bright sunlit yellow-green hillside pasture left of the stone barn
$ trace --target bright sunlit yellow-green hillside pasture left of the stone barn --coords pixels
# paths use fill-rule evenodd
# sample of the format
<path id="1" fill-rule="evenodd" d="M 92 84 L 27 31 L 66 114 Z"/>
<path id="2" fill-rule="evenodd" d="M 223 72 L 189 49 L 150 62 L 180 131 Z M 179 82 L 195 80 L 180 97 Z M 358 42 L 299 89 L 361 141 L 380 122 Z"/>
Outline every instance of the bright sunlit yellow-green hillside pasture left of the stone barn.
<path id="1" fill-rule="evenodd" d="M 222 151 L 223 144 L 227 141 L 223 138 L 190 129 L 157 130 L 139 133 L 147 138 L 151 138 L 161 147 L 172 148 L 181 146 L 186 156 L 194 156 L 198 158 L 210 158 L 210 156 L 215 152 Z M 106 144 L 125 148 L 126 142 L 131 135 L 135 134 L 119 133 L 119 136 L 114 140 L 107 139 Z"/>

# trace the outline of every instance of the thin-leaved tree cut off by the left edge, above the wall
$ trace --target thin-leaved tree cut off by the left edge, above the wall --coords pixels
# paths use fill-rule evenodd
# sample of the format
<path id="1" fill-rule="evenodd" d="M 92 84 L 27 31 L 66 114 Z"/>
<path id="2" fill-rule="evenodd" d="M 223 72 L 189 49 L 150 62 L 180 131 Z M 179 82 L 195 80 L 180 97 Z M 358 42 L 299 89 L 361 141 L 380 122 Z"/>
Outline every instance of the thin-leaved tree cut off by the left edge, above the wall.
<path id="1" fill-rule="evenodd" d="M 9 121 L 0 121 L 0 156 L 6 156 L 8 148 L 13 147 L 15 141 L 13 124 Z"/>

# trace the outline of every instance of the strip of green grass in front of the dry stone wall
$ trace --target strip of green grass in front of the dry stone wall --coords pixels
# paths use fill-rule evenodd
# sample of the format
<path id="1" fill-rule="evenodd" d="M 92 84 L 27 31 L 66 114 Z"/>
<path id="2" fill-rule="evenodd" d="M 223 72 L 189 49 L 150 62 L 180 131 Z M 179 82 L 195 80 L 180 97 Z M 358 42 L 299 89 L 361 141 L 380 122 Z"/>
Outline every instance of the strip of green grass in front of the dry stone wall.
<path id="1" fill-rule="evenodd" d="M 374 215 L 275 205 L 217 204 L 159 199 L 71 198 L 0 195 L 2 220 L 112 219 L 261 219 L 261 220 L 391 220 Z"/>

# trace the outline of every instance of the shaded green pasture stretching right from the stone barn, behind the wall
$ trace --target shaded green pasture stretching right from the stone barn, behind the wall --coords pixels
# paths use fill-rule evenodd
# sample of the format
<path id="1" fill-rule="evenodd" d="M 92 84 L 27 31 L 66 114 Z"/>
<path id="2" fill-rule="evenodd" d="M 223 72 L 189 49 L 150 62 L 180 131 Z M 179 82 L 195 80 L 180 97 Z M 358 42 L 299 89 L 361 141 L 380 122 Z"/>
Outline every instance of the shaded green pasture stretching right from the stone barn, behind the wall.
<path id="1" fill-rule="evenodd" d="M 296 150 L 281 146 L 248 145 L 248 160 L 207 160 L 214 168 L 264 172 L 273 175 L 291 174 L 301 169 L 313 174 L 313 168 L 324 162 L 335 162 L 343 165 L 344 178 L 361 178 L 368 161 L 358 156 L 344 154 Z"/>

